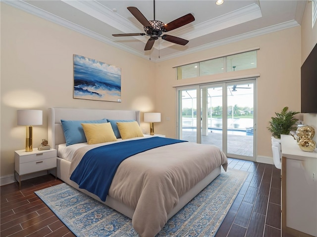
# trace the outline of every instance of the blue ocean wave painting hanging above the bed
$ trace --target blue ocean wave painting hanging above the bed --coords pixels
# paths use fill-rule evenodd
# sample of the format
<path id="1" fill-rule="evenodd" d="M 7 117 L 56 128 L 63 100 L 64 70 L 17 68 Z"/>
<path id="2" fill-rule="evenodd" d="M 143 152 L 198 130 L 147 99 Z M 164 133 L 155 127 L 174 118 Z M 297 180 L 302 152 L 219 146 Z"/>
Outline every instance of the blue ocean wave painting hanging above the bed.
<path id="1" fill-rule="evenodd" d="M 121 68 L 73 55 L 74 99 L 121 102 Z"/>

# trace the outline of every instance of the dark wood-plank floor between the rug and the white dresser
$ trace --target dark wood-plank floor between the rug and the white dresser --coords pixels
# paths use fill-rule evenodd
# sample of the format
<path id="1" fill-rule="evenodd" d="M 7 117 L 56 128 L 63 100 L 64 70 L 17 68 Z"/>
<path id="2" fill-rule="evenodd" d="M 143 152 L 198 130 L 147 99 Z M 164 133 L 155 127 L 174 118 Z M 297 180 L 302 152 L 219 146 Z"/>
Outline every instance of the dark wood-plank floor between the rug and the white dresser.
<path id="1" fill-rule="evenodd" d="M 274 165 L 229 159 L 229 168 L 250 174 L 216 237 L 281 236 L 281 170 Z"/>

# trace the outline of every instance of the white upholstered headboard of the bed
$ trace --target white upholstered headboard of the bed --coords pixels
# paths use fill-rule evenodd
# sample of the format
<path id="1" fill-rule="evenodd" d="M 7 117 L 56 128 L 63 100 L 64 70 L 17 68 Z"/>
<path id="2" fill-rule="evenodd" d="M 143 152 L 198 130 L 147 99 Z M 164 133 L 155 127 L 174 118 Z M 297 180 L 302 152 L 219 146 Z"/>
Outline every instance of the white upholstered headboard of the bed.
<path id="1" fill-rule="evenodd" d="M 49 108 L 48 141 L 52 148 L 66 143 L 60 119 L 64 120 L 98 120 L 98 119 L 134 119 L 140 124 L 140 111 L 135 110 L 94 110 Z"/>

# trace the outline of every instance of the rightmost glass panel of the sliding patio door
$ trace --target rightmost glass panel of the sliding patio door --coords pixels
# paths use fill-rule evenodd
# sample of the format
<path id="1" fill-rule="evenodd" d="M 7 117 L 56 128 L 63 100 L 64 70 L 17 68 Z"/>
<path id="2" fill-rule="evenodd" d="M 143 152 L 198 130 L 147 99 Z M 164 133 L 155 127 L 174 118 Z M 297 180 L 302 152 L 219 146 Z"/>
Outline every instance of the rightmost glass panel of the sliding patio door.
<path id="1" fill-rule="evenodd" d="M 227 156 L 254 158 L 254 83 L 227 84 Z"/>

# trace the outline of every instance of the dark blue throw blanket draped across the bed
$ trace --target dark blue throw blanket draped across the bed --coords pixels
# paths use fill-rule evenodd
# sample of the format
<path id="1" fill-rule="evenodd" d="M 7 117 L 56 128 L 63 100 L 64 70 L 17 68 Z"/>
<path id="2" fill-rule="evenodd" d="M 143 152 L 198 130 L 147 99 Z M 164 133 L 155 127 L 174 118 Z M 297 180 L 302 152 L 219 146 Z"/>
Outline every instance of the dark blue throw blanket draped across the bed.
<path id="1" fill-rule="evenodd" d="M 105 201 L 114 174 L 124 159 L 153 148 L 180 142 L 185 141 L 151 137 L 94 148 L 86 152 L 70 179 L 76 182 L 79 188 L 86 189 Z"/>

